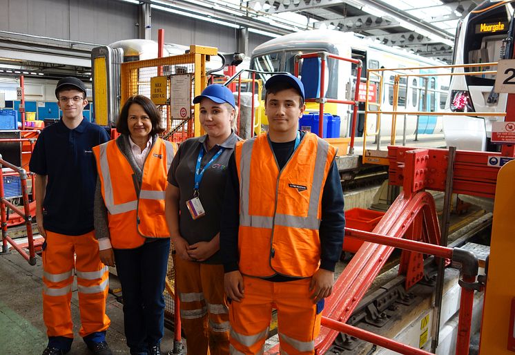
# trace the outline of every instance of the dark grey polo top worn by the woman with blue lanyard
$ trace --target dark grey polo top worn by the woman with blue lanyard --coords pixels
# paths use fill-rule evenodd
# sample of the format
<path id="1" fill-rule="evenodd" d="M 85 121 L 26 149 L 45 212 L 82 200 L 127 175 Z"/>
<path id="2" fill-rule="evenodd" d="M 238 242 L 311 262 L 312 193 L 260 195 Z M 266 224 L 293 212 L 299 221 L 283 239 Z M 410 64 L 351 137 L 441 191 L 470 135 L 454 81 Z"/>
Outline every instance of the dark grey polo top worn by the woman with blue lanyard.
<path id="1" fill-rule="evenodd" d="M 240 137 L 232 132 L 225 142 L 220 145 L 216 144 L 211 148 L 211 151 L 204 153 L 200 162 L 201 168 L 211 160 L 219 149 L 224 149 L 217 160 L 204 172 L 200 182 L 199 198 L 206 215 L 197 220 L 191 218 L 191 214 L 186 207 L 186 201 L 193 198 L 195 165 L 200 149 L 207 149 L 205 144 L 206 135 L 186 140 L 179 146 L 175 157 L 173 157 L 172 165 L 168 171 L 168 182 L 179 188 L 179 231 L 182 238 L 186 239 L 189 244 L 208 242 L 220 232 L 220 215 L 227 180 L 226 169 L 238 140 L 240 140 Z M 222 264 L 220 251 L 217 251 L 205 263 Z"/>

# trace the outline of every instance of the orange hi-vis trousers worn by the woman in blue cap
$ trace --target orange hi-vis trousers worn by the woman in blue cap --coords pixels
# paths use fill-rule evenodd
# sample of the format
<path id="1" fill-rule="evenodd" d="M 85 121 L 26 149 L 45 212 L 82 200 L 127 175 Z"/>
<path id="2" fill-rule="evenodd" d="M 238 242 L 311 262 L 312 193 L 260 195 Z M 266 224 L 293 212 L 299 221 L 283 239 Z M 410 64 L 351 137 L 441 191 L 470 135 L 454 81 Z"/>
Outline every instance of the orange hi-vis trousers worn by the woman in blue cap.
<path id="1" fill-rule="evenodd" d="M 175 255 L 181 325 L 189 355 L 229 354 L 229 308 L 224 267 L 182 260 Z"/>

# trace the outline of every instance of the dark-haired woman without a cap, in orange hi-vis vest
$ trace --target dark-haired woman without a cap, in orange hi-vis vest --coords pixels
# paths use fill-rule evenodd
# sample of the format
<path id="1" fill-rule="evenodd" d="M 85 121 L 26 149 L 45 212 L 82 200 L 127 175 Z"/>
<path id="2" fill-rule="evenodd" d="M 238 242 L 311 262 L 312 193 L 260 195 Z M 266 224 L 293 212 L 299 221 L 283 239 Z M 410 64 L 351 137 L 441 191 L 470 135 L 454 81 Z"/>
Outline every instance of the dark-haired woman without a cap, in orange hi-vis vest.
<path id="1" fill-rule="evenodd" d="M 164 218 L 166 173 L 177 151 L 158 133 L 161 114 L 147 97 L 129 97 L 117 140 L 95 146 L 99 181 L 95 231 L 100 258 L 117 267 L 130 354 L 161 354 L 170 233 Z"/>

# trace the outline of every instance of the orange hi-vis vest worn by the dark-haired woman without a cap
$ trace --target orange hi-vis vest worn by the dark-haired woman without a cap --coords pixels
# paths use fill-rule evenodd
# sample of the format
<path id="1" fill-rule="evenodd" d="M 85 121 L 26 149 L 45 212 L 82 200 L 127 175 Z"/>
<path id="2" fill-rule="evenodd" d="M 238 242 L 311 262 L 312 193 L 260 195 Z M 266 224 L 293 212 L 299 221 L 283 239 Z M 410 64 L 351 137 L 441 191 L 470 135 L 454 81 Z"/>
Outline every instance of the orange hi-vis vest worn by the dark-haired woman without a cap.
<path id="1" fill-rule="evenodd" d="M 176 151 L 174 144 L 158 138 L 144 162 L 141 186 L 137 186 L 133 167 L 115 140 L 93 148 L 113 248 L 137 248 L 146 237 L 170 236 L 164 218 L 164 195 L 166 175 Z"/>

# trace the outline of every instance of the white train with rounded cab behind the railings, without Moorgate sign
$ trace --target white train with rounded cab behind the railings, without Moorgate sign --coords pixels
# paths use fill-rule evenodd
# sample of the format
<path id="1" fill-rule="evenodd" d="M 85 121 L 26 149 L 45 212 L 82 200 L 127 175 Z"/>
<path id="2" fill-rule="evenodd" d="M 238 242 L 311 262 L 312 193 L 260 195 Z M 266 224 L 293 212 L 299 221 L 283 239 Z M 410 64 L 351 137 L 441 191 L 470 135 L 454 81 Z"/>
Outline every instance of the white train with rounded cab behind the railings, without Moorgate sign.
<path id="1" fill-rule="evenodd" d="M 395 69 L 414 68 L 406 73 L 427 74 L 425 77 L 401 77 L 398 95 L 398 111 L 432 111 L 437 112 L 445 108 L 449 89 L 448 76 L 432 76 L 436 73 L 449 73 L 443 68 L 445 63 L 420 57 L 414 53 L 358 37 L 352 32 L 336 30 L 307 30 L 295 32 L 266 41 L 257 46 L 251 55 L 251 69 L 261 72 L 294 72 L 295 55 L 309 52 L 329 52 L 339 57 L 360 59 L 362 61 L 362 77 L 364 81 L 367 69 Z M 300 62 L 300 75 L 302 76 L 302 59 Z M 434 69 L 418 69 L 424 67 L 438 67 Z M 351 100 L 356 87 L 356 64 L 338 59 L 327 60 L 324 69 L 326 81 L 324 85 L 325 96 L 331 99 Z M 378 77 L 371 77 L 369 84 L 368 111 L 392 111 L 393 108 L 393 79 L 398 70 L 385 70 L 382 72 L 382 97 L 379 97 L 380 86 Z M 257 78 L 266 81 L 269 73 L 257 73 Z M 364 84 L 362 84 L 364 85 Z M 381 100 L 378 102 L 378 100 Z M 307 111 L 318 112 L 318 104 L 308 103 Z M 340 117 L 340 137 L 348 137 L 351 132 L 352 107 L 347 104 L 326 104 L 325 112 Z M 359 104 L 360 114 L 356 125 L 356 135 L 364 132 L 376 131 L 376 115 L 368 115 L 365 130 L 365 103 Z M 404 116 L 404 115 L 402 115 Z M 442 117 L 429 115 L 406 115 L 406 127 L 403 119 L 396 121 L 396 134 L 402 135 L 433 135 L 442 134 Z M 266 125 L 266 121 L 263 122 Z M 380 119 L 380 134 L 383 137 L 391 134 L 391 115 L 382 114 Z"/>

